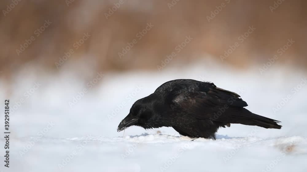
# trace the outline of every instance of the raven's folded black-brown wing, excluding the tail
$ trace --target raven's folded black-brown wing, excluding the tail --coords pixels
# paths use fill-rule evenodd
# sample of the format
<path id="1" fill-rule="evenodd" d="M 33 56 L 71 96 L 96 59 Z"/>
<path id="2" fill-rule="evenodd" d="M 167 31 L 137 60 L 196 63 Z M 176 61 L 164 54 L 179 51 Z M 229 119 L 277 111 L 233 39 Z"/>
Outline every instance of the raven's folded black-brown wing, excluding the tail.
<path id="1" fill-rule="evenodd" d="M 247 106 L 238 94 L 218 88 L 210 82 L 177 80 L 170 88 L 166 93 L 166 103 L 172 109 L 187 112 L 197 119 L 228 123 L 238 115 L 244 115 L 240 112 Z"/>

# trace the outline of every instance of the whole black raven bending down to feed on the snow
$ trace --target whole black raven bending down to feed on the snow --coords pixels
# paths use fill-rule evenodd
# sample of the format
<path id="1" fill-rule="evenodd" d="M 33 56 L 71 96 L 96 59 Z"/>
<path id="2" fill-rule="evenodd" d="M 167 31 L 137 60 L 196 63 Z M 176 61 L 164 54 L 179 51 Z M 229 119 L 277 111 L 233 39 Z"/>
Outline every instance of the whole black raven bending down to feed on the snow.
<path id="1" fill-rule="evenodd" d="M 145 129 L 166 126 L 184 136 L 215 139 L 219 127 L 231 123 L 281 129 L 280 121 L 256 115 L 246 106 L 238 94 L 211 82 L 177 79 L 136 101 L 117 131 L 133 125 Z"/>

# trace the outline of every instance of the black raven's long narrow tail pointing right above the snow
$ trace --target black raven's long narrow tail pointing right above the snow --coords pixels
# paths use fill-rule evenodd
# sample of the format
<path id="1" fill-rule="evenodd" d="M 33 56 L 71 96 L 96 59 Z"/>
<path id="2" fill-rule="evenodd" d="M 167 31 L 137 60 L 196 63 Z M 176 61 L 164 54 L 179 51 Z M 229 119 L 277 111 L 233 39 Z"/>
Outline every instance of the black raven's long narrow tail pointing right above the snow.
<path id="1" fill-rule="evenodd" d="M 246 111 L 244 111 L 242 115 L 236 116 L 236 118 L 231 120 L 230 123 L 240 123 L 243 125 L 260 126 L 263 128 L 275 128 L 275 129 L 282 128 L 281 125 L 278 125 L 280 121 L 254 114 L 248 111 L 247 109 L 245 110 Z"/>

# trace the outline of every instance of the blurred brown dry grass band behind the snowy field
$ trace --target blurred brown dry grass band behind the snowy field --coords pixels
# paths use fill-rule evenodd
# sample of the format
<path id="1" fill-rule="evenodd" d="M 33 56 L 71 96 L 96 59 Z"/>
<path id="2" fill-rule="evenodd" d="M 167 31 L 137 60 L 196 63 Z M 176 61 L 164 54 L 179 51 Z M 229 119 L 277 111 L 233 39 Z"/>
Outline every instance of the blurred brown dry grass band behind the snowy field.
<path id="1" fill-rule="evenodd" d="M 190 35 L 194 39 L 177 53 L 174 63 L 187 64 L 210 55 L 220 63 L 238 68 L 248 68 L 255 63 L 261 66 L 292 38 L 295 43 L 277 63 L 305 68 L 307 1 L 284 0 L 272 13 L 270 6 L 274 1 L 277 2 L 230 0 L 227 4 L 224 0 L 180 0 L 169 9 L 168 3 L 172 0 L 124 0 L 106 19 L 108 8 L 119 0 L 75 0 L 69 6 L 64 0 L 21 0 L 6 16 L 0 15 L 0 71 L 14 72 L 29 62 L 57 71 L 55 62 L 87 32 L 90 39 L 65 63 L 72 64 L 79 59 L 83 65 L 92 65 L 100 71 L 157 70 L 161 60 Z M 208 22 L 206 16 L 223 2 L 226 6 Z M 6 5 L 11 3 L 11 0 L 2 0 L 1 10 L 6 10 Z M 36 37 L 34 31 L 45 20 L 52 24 Z M 118 52 L 127 42 L 132 42 L 147 23 L 154 27 L 120 59 Z M 220 55 L 237 42 L 249 26 L 256 30 L 222 62 Z M 16 49 L 31 36 L 36 40 L 18 56 Z"/>

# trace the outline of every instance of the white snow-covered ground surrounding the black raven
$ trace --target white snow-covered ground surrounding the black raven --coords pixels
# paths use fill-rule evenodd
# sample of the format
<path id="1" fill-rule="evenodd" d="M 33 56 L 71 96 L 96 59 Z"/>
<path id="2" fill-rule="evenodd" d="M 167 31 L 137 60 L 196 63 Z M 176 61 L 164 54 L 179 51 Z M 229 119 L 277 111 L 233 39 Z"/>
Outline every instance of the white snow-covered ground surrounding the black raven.
<path id="1" fill-rule="evenodd" d="M 302 81 L 307 75 L 274 65 L 263 74 L 258 69 L 262 66 L 235 71 L 201 62 L 180 70 L 169 65 L 157 72 L 125 74 L 62 69 L 60 75 L 44 75 L 41 69 L 25 67 L 14 76 L 12 95 L 6 95 L 3 82 L 0 85 L 6 90 L 0 100 L 11 102 L 10 168 L 4 167 L 2 157 L 0 170 L 305 172 L 307 84 Z M 85 77 L 92 79 L 80 80 Z M 221 128 L 215 141 L 190 141 L 166 127 L 116 131 L 134 101 L 179 78 L 210 81 L 239 93 L 249 104 L 247 109 L 280 120 L 283 127 L 232 124 Z"/>

